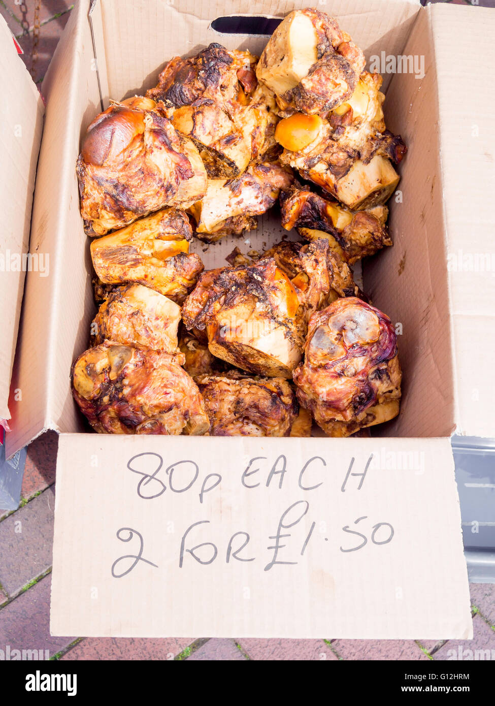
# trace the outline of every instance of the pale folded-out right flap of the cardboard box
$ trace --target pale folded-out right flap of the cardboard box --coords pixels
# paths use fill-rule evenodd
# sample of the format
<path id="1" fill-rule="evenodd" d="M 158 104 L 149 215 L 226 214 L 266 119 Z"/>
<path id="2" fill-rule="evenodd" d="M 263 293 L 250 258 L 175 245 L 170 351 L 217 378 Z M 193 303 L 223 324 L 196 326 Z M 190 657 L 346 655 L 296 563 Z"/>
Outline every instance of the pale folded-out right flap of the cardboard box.
<path id="1" fill-rule="evenodd" d="M 453 10 L 453 13 L 448 10 Z M 473 12 L 477 10 L 479 12 Z M 431 8 L 458 433 L 495 437 L 495 12 Z M 455 47 L 460 42 L 462 50 Z M 462 90 L 461 90 L 462 88 Z M 462 97 L 460 97 L 462 93 Z"/>

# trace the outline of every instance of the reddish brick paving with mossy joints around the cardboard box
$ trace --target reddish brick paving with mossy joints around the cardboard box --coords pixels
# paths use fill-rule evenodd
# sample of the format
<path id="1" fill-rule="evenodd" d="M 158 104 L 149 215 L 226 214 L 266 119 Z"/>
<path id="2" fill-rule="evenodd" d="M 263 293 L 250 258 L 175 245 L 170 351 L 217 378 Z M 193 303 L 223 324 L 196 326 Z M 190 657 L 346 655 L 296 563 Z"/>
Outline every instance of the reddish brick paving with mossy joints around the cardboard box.
<path id="1" fill-rule="evenodd" d="M 481 0 L 480 5 L 491 0 Z M 453 0 L 465 4 L 465 0 Z M 73 2 L 42 0 L 40 37 L 33 78 L 40 85 Z M 26 0 L 25 14 L 15 0 L 0 0 L 4 16 L 20 46 L 28 70 L 32 69 L 34 0 Z M 23 23 L 26 29 L 23 28 Z M 27 29 L 28 28 L 28 29 Z M 28 500 L 16 513 L 8 515 L 0 509 L 0 646 L 11 650 L 49 650 L 52 657 L 63 660 L 89 659 L 191 659 L 192 661 L 230 660 L 323 660 L 323 659 L 452 659 L 460 650 L 495 650 L 495 586 L 472 584 L 472 605 L 477 613 L 473 620 L 473 640 L 255 640 L 193 638 L 54 638 L 49 635 L 50 575 L 34 582 L 51 566 L 55 479 L 56 434 L 47 433 L 30 445 L 23 479 L 22 496 Z M 36 495 L 36 493 L 41 493 Z M 8 515 L 8 516 L 7 516 Z M 20 525 L 16 525 L 20 522 Z M 20 532 L 15 532 L 20 527 Z M 194 644 L 193 644 L 194 643 Z M 191 646 L 192 645 L 192 649 Z M 240 646 L 239 647 L 237 646 Z M 464 654 L 464 653 L 462 653 Z M 469 654 L 467 652 L 467 654 Z"/>

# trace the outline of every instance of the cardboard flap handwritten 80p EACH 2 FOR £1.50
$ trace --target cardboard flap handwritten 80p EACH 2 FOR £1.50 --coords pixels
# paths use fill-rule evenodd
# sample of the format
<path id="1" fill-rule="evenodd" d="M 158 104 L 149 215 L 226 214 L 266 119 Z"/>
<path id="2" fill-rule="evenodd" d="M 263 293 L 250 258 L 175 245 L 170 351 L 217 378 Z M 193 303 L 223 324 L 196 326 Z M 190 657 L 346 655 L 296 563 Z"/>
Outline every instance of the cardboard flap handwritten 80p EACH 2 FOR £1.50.
<path id="1" fill-rule="evenodd" d="M 448 439 L 63 434 L 54 635 L 471 638 Z"/>

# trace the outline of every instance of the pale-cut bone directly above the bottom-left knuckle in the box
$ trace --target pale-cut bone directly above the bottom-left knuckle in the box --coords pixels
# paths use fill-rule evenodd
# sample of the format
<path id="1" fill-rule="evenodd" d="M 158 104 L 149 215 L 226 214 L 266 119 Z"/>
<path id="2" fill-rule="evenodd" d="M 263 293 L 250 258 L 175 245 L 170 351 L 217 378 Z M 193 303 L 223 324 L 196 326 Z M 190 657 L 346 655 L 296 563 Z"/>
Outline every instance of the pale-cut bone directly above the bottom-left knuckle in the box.
<path id="1" fill-rule="evenodd" d="M 163 294 L 143 285 L 125 285 L 110 292 L 91 325 L 93 345 L 105 340 L 165 353 L 178 353 L 181 309 Z"/>

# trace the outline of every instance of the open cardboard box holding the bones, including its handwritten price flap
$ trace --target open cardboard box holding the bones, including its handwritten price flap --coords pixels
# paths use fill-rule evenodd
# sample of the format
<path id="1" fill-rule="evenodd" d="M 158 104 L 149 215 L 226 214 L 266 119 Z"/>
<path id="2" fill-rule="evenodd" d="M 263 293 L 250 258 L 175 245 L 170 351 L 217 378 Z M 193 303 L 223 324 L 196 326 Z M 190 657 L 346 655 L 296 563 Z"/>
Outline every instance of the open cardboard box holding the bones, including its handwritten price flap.
<path id="1" fill-rule="evenodd" d="M 109 97 L 155 85 L 174 55 L 213 41 L 259 54 L 268 41 L 221 35 L 215 18 L 311 5 L 95 0 L 88 14 L 80 0 L 56 49 L 30 241 L 50 253 L 50 276 L 28 276 L 8 438 L 13 453 L 44 429 L 61 434 L 56 635 L 472 636 L 450 436 L 495 436 L 495 280 L 479 265 L 494 256 L 489 9 L 321 7 L 368 60 L 412 57 L 412 73 L 382 70 L 387 125 L 409 152 L 389 204 L 394 246 L 364 267 L 366 291 L 402 330 L 397 419 L 369 439 L 119 438 L 85 433 L 71 397 L 95 311 L 74 170 L 85 127 Z M 281 233 L 263 217 L 250 246 Z M 205 266 L 234 244 L 201 253 Z"/>

